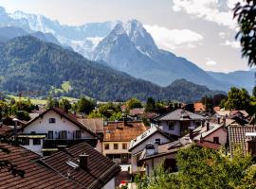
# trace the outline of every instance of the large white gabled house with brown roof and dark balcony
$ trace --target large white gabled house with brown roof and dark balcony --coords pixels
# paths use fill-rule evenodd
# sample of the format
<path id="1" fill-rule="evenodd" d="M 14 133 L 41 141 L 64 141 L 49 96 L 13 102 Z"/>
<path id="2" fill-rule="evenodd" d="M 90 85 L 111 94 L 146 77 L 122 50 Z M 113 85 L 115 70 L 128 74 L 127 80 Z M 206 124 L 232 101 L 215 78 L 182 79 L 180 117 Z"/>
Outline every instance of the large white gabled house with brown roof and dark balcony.
<path id="1" fill-rule="evenodd" d="M 101 151 L 99 137 L 79 122 L 75 115 L 51 108 L 27 122 L 17 136 L 21 144 L 40 155 L 49 155 L 58 147 L 87 142 Z"/>

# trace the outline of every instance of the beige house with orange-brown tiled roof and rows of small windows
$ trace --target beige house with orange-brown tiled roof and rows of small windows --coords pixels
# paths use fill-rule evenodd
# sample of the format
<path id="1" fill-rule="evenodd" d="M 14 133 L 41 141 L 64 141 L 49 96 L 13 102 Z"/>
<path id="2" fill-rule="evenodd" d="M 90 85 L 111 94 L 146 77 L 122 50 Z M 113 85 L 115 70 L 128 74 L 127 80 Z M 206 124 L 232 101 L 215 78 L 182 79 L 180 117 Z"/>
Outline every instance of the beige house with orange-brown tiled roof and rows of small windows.
<path id="1" fill-rule="evenodd" d="M 131 163 L 131 153 L 128 151 L 130 141 L 146 129 L 141 121 L 107 122 L 104 126 L 102 154 L 116 163 Z"/>

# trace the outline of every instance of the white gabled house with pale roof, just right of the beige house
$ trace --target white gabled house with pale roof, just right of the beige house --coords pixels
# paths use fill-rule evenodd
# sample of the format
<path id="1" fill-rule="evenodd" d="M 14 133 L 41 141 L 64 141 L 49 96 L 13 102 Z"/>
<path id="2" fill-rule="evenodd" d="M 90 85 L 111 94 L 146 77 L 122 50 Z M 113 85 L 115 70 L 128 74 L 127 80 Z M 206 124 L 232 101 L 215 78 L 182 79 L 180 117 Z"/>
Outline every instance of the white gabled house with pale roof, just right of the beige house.
<path id="1" fill-rule="evenodd" d="M 142 164 L 139 163 L 139 157 L 149 143 L 160 145 L 174 141 L 168 134 L 163 132 L 163 130 L 152 127 L 151 129 L 146 130 L 141 135 L 137 136 L 136 139 L 132 140 L 130 143 L 129 151 L 131 152 L 131 163 L 132 163 L 132 173 L 137 173 L 144 171 Z"/>

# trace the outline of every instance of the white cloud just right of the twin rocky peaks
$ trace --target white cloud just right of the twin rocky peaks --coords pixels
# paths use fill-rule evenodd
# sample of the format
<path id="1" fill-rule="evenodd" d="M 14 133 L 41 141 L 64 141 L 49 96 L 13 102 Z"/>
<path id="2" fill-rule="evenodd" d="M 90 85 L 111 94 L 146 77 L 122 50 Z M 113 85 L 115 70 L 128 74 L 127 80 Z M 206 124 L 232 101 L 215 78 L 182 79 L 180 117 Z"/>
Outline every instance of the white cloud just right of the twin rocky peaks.
<path id="1" fill-rule="evenodd" d="M 157 46 L 167 50 L 175 48 L 194 48 L 204 37 L 190 29 L 168 29 L 163 26 L 144 26 L 152 35 Z"/>

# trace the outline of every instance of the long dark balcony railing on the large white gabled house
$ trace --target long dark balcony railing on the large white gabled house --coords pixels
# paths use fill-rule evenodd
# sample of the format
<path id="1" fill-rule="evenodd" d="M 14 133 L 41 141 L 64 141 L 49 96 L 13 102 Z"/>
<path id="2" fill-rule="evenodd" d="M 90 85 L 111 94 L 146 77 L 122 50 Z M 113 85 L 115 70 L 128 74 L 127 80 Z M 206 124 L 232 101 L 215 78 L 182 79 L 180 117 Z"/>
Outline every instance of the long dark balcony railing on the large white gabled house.
<path id="1" fill-rule="evenodd" d="M 75 146 L 80 143 L 86 142 L 90 146 L 96 147 L 97 146 L 97 139 L 45 139 L 43 143 L 43 148 L 56 148 L 57 146 Z"/>

